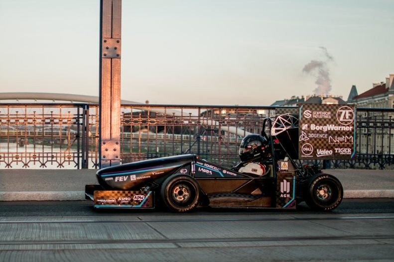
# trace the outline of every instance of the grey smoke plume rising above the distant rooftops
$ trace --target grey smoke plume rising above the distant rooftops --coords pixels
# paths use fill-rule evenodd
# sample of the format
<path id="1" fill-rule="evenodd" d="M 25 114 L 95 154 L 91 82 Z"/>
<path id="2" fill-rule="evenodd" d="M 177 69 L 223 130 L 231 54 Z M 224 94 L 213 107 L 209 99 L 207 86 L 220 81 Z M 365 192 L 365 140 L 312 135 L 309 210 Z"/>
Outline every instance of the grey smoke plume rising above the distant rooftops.
<path id="1" fill-rule="evenodd" d="M 327 63 L 334 61 L 334 58 L 328 53 L 327 48 L 324 46 L 320 46 L 319 48 L 323 51 L 324 60 L 311 60 L 304 66 L 302 72 L 316 79 L 315 84 L 317 87 L 313 90 L 314 94 L 327 95 L 331 91 L 330 70 L 328 69 Z"/>

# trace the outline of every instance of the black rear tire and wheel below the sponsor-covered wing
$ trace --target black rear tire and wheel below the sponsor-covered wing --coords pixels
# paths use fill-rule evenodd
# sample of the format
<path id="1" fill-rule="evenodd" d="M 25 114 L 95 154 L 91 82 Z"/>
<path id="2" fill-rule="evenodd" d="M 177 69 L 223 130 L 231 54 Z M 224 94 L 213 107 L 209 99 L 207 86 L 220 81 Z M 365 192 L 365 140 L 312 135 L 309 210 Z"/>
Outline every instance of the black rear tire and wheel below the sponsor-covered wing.
<path id="1" fill-rule="evenodd" d="M 317 174 L 310 178 L 304 198 L 313 210 L 332 211 L 342 202 L 343 187 L 335 176 Z"/>

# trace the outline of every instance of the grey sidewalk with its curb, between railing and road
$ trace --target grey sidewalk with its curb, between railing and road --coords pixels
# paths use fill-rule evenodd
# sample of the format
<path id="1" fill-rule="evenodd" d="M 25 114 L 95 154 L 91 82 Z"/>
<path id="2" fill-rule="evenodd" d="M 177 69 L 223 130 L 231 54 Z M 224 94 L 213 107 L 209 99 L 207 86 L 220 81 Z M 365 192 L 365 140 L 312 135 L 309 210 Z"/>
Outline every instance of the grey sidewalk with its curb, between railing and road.
<path id="1" fill-rule="evenodd" d="M 97 184 L 97 170 L 1 169 L 0 201 L 84 200 L 85 184 Z M 344 198 L 394 198 L 394 170 L 330 169 Z"/>

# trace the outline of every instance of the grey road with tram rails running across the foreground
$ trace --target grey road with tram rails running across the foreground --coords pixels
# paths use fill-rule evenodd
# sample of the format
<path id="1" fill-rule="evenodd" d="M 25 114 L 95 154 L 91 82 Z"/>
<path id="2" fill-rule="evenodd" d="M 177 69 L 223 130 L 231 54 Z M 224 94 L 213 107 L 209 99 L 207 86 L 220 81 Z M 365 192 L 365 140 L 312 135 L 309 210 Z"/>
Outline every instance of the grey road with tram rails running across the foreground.
<path id="1" fill-rule="evenodd" d="M 145 211 L 0 202 L 0 261 L 394 260 L 393 199 L 345 199 L 333 212 Z"/>

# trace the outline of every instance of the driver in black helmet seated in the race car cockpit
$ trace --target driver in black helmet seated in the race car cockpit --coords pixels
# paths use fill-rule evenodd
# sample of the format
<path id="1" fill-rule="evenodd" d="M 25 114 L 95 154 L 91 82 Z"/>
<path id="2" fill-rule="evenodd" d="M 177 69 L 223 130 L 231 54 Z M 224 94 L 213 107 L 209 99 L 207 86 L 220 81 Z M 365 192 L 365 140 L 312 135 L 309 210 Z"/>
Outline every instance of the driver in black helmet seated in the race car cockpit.
<path id="1" fill-rule="evenodd" d="M 264 158 L 269 155 L 268 141 L 261 135 L 251 134 L 244 137 L 240 145 L 239 156 L 241 162 L 233 167 L 234 171 L 252 175 L 268 174 Z"/>

